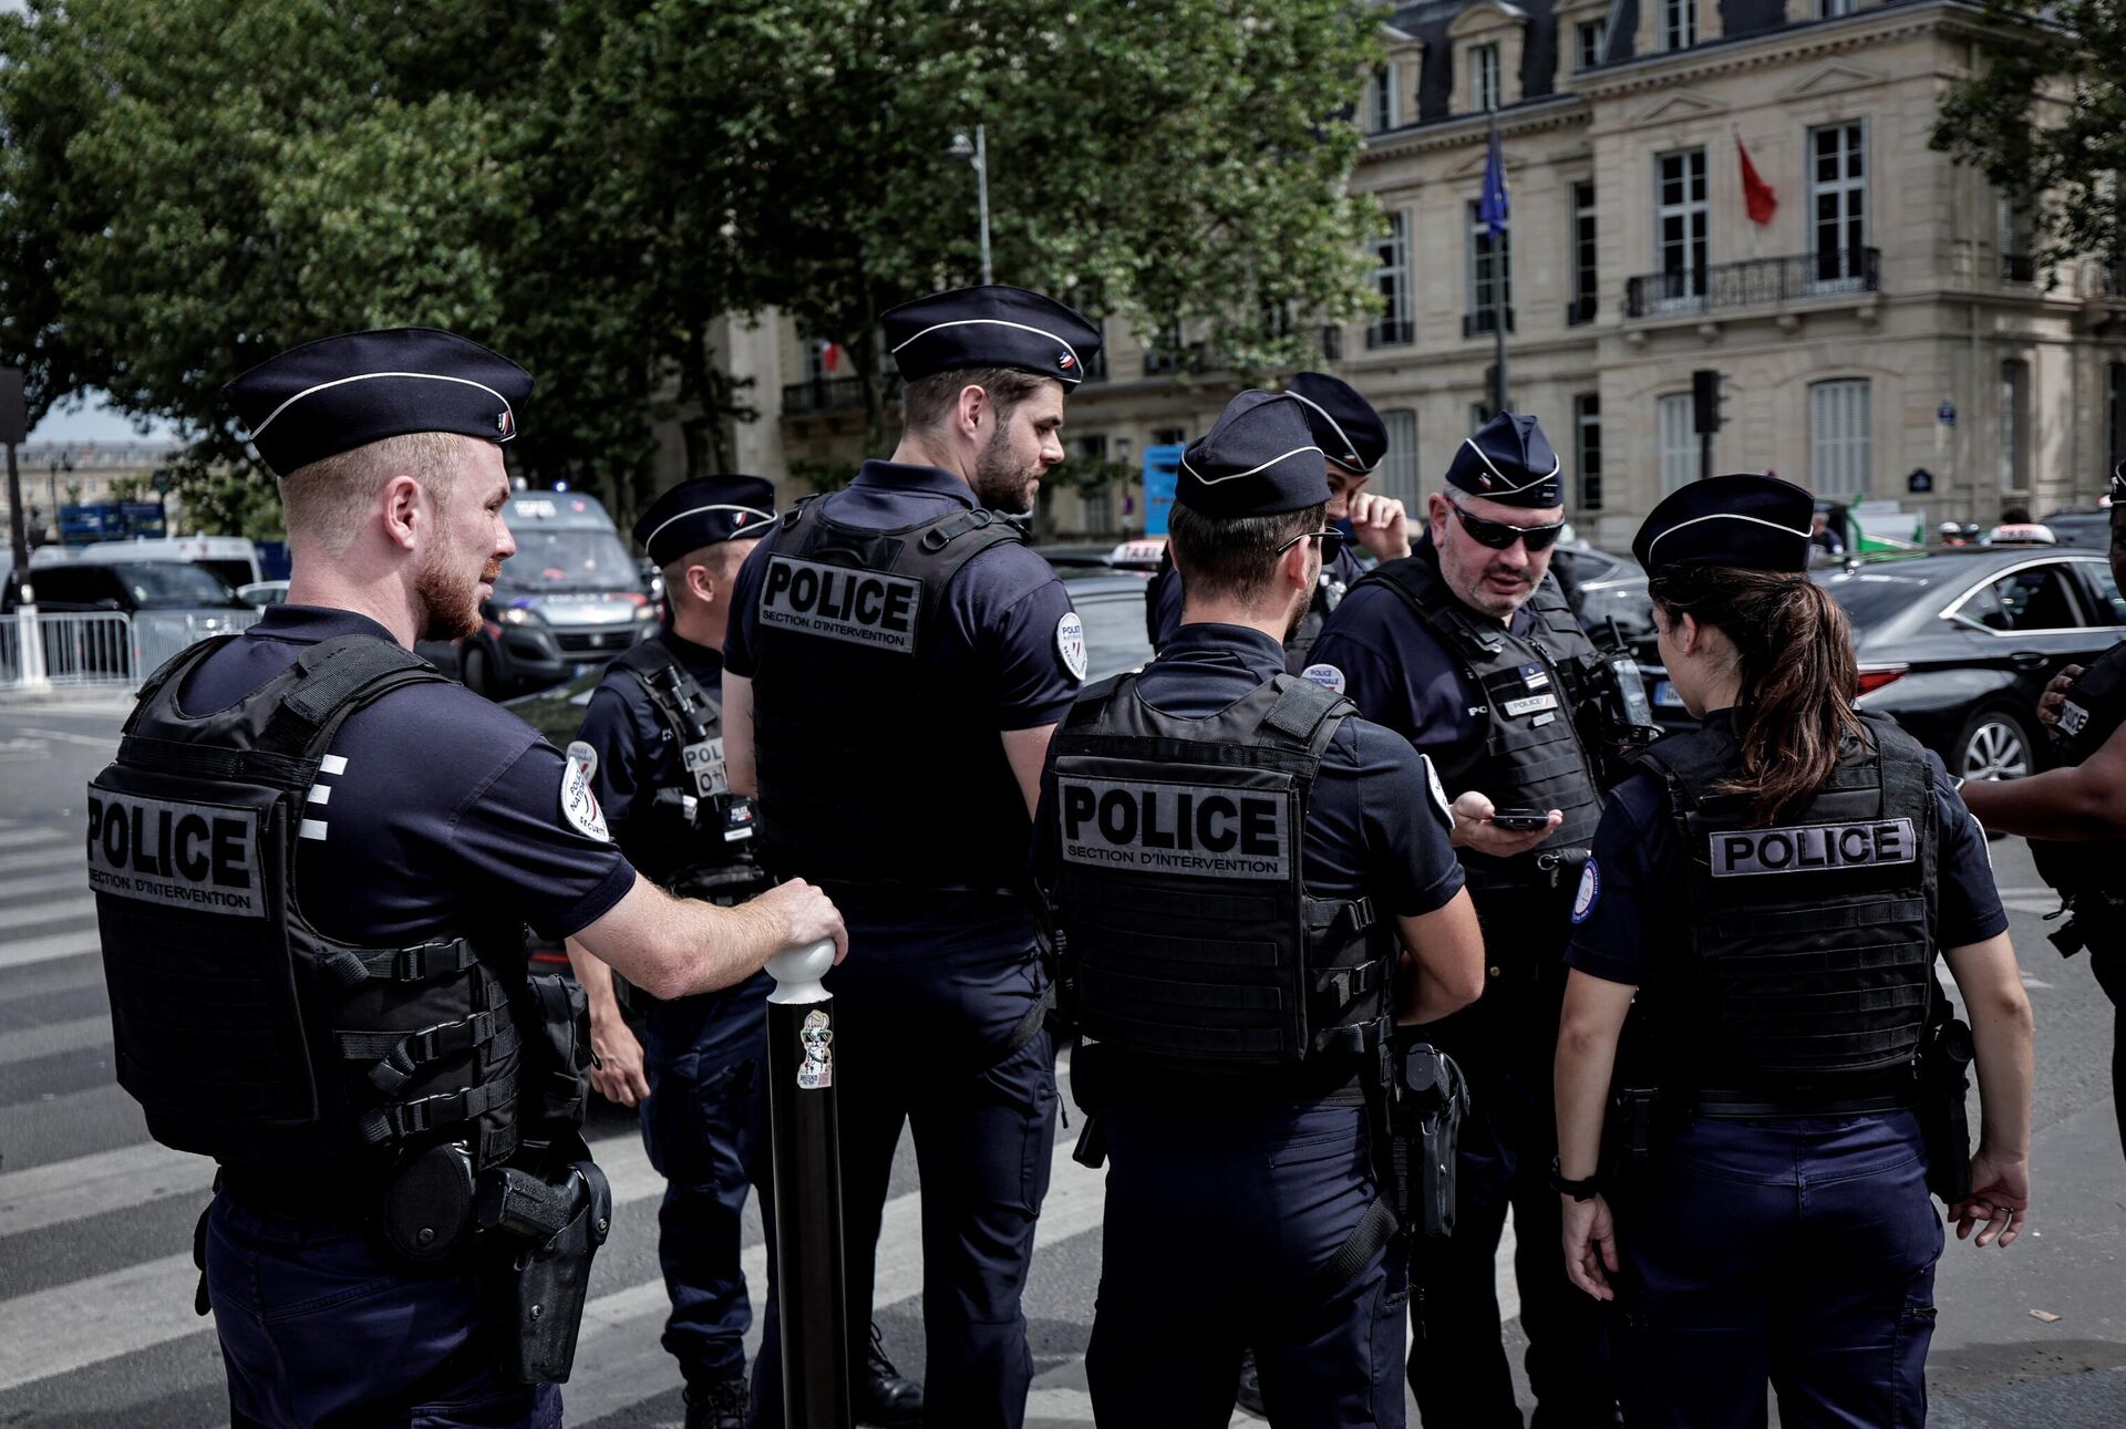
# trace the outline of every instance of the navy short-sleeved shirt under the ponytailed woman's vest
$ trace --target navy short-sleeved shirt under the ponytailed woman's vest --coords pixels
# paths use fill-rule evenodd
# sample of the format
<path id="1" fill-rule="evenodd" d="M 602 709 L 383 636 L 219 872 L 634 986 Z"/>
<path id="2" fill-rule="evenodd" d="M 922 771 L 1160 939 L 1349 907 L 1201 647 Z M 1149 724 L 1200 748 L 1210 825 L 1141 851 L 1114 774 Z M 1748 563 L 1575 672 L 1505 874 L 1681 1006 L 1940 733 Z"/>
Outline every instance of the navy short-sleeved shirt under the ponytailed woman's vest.
<path id="1" fill-rule="evenodd" d="M 1726 725 L 1728 712 L 1714 710 L 1707 725 Z M 1947 770 L 1933 751 L 1926 768 L 1935 778 L 1935 825 L 1941 848 L 1937 940 L 1943 948 L 1986 942 L 2007 931 L 2007 914 L 1994 891 L 1986 829 L 1964 808 Z M 1675 919 L 1675 889 L 1688 874 L 1675 838 L 1669 787 L 1654 774 L 1633 774 L 1603 806 L 1594 829 L 1592 902 L 1573 908 L 1573 942 L 1565 963 L 1580 972 L 1646 987 L 1654 968 L 1675 965 L 1686 951 L 1688 927 Z M 1667 959 L 1667 961 L 1665 961 Z"/>

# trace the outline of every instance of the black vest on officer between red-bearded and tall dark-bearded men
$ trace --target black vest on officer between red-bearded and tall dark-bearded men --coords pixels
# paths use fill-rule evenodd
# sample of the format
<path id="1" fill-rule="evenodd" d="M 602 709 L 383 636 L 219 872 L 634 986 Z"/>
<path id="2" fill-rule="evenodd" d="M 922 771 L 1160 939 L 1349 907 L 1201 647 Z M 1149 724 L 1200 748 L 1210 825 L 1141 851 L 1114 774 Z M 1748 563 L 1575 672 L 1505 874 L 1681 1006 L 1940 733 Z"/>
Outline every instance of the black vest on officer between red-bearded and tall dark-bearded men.
<path id="1" fill-rule="evenodd" d="M 731 793 L 725 776 L 723 706 L 661 634 L 636 642 L 612 666 L 642 685 L 678 763 L 678 783 L 636 795 L 621 853 L 644 878 L 680 897 L 721 904 L 753 897 L 767 876 L 753 859 L 753 800 Z"/>

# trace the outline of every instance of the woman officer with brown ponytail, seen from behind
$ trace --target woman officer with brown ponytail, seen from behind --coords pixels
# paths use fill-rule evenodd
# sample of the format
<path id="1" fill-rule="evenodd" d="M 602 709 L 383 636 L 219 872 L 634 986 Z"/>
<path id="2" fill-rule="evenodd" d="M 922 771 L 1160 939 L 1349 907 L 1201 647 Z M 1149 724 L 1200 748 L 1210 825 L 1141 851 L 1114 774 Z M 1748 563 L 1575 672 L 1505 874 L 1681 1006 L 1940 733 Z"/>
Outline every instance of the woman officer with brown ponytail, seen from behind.
<path id="1" fill-rule="evenodd" d="M 1556 1189 L 1573 1284 L 1626 1310 L 1635 1427 L 1762 1423 L 1767 1382 L 1790 1425 L 1924 1423 L 1928 1189 L 1979 1246 L 2030 1197 L 2030 1004 L 1986 836 L 1935 755 L 1854 710 L 1809 547 L 1809 493 L 1775 476 L 1684 487 L 1633 542 L 1705 723 L 1641 757 L 1580 880 Z"/>

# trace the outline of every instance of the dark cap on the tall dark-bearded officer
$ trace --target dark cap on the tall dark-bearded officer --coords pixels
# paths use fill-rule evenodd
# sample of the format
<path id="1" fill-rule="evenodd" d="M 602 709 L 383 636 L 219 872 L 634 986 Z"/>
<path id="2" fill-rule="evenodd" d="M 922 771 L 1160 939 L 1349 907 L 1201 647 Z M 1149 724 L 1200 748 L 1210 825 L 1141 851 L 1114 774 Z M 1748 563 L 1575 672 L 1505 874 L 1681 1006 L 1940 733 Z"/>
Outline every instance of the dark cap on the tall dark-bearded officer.
<path id="1" fill-rule="evenodd" d="M 1082 313 L 1001 283 L 916 298 L 880 321 L 910 383 L 963 368 L 1018 368 L 1076 387 L 1099 353 L 1099 327 Z"/>

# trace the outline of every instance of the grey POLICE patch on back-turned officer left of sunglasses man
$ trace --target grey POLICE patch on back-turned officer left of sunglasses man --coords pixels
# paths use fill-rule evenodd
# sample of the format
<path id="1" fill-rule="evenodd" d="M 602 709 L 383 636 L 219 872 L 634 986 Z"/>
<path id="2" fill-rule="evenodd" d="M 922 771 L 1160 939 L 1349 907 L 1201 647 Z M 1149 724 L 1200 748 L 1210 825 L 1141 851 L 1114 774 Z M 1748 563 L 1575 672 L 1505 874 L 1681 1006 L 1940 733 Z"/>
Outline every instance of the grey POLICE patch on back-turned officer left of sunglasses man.
<path id="1" fill-rule="evenodd" d="M 1184 878 L 1290 878 L 1290 804 L 1218 785 L 1059 778 L 1063 857 Z"/>

